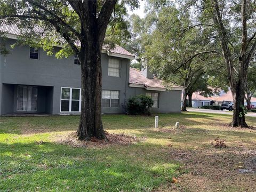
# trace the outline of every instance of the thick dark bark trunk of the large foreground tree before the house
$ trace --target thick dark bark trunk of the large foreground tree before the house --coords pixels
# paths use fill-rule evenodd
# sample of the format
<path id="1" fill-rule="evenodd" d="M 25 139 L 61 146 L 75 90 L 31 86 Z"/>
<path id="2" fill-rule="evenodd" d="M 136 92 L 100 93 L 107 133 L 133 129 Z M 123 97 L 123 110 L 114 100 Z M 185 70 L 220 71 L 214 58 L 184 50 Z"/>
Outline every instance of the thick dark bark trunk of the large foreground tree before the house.
<path id="1" fill-rule="evenodd" d="M 81 19 L 82 109 L 77 129 L 79 140 L 107 139 L 101 120 L 101 50 L 106 29 L 116 1 L 106 1 L 97 18 L 97 1 L 85 1 L 86 6 L 70 2 Z"/>

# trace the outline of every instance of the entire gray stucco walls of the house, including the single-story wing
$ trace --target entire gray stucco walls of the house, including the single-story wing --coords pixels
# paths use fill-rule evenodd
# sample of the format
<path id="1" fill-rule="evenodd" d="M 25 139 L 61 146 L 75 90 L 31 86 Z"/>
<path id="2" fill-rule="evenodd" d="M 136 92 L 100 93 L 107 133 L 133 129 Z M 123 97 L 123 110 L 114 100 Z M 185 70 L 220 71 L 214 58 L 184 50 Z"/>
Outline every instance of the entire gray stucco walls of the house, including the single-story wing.
<path id="1" fill-rule="evenodd" d="M 38 110 L 35 113 L 60 114 L 61 87 L 81 87 L 81 66 L 74 64 L 74 57 L 57 59 L 54 54 L 60 49 L 54 48 L 53 55 L 39 50 L 39 60 L 29 59 L 29 46 L 10 45 L 15 39 L 5 42 L 10 54 L 0 55 L 0 114 L 13 113 L 17 110 L 17 85 L 38 86 Z M 159 93 L 159 108 L 152 108 L 153 113 L 180 111 L 181 91 L 147 91 L 144 88 L 129 87 L 130 60 L 121 60 L 121 77 L 108 76 L 109 55 L 101 54 L 102 90 L 120 92 L 119 107 L 102 108 L 102 113 L 124 113 L 129 98 L 146 92 Z"/>

